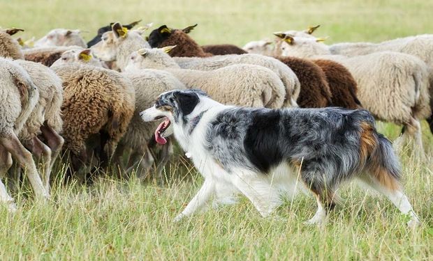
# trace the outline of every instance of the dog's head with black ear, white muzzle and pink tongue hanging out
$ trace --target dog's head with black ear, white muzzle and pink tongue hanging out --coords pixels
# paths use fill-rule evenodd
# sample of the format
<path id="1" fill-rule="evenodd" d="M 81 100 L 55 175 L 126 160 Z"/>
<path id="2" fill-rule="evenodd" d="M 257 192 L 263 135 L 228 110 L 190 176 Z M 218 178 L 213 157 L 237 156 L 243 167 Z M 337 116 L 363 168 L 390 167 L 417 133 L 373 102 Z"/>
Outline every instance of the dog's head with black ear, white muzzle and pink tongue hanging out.
<path id="1" fill-rule="evenodd" d="M 203 90 L 171 90 L 159 95 L 154 106 L 142 111 L 140 116 L 146 122 L 164 119 L 156 128 L 155 140 L 165 144 L 165 137 L 173 134 L 173 129 L 169 128 L 171 122 L 186 123 L 197 114 L 200 98 L 205 96 L 207 95 Z"/>

